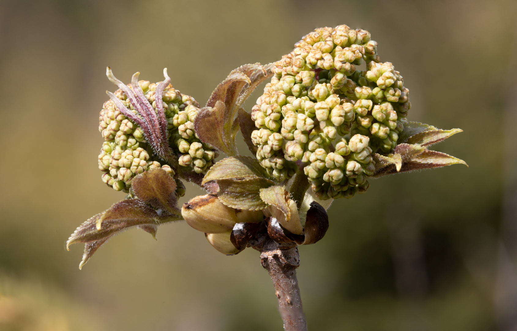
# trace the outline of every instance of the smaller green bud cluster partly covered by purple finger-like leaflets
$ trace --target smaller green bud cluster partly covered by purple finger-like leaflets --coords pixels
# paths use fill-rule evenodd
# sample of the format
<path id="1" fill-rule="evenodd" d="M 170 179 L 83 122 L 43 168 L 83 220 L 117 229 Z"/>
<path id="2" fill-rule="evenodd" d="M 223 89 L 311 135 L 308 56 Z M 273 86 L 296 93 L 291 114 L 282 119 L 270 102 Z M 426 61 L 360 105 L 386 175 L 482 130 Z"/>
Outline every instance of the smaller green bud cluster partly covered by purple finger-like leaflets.
<path id="1" fill-rule="evenodd" d="M 141 80 L 138 84 L 156 111 L 157 83 Z M 128 87 L 131 88 L 130 85 Z M 115 95 L 131 112 L 137 114 L 123 91 L 119 89 Z M 194 132 L 193 123 L 199 104 L 170 84 L 163 91 L 162 100 L 169 146 L 178 154 L 179 165 L 192 166 L 197 173 L 206 172 L 218 154 L 212 146 L 202 143 Z M 113 189 L 128 192 L 134 176 L 155 167 L 163 168 L 171 176 L 175 175 L 174 168 L 153 152 L 143 129 L 124 116 L 113 100 L 105 102 L 100 111 L 99 131 L 105 140 L 99 154 L 99 169 L 104 172 L 102 181 Z M 184 188 L 181 182 L 177 184 L 178 188 Z"/>

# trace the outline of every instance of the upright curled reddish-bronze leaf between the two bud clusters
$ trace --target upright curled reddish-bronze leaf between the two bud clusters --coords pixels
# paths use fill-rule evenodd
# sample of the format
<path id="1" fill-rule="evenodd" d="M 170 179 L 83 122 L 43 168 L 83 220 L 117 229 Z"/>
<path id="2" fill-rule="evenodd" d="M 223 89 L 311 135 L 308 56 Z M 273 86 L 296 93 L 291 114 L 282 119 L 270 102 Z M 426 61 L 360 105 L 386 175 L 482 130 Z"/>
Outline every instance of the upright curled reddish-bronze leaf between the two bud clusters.
<path id="1" fill-rule="evenodd" d="M 237 111 L 257 85 L 271 75 L 271 65 L 262 66 L 260 63 L 246 64 L 233 70 L 212 92 L 206 107 L 197 113 L 194 121 L 197 136 L 228 156 L 237 155 Z"/>

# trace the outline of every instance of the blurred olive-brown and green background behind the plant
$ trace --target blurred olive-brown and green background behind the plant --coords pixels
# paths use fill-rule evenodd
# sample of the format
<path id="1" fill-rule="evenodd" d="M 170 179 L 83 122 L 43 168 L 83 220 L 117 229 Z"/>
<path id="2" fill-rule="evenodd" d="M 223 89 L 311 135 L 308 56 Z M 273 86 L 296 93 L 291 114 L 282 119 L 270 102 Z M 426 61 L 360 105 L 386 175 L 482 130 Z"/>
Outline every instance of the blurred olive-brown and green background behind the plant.
<path id="1" fill-rule="evenodd" d="M 280 330 L 252 249 L 224 256 L 178 222 L 116 236 L 80 271 L 65 241 L 125 196 L 97 168 L 107 65 L 127 82 L 168 67 L 204 104 L 237 66 L 339 24 L 400 70 L 410 120 L 464 130 L 435 149 L 469 168 L 333 203 L 326 237 L 300 247 L 309 329 L 517 330 L 516 15 L 514 0 L 0 0 L 0 330 Z"/>

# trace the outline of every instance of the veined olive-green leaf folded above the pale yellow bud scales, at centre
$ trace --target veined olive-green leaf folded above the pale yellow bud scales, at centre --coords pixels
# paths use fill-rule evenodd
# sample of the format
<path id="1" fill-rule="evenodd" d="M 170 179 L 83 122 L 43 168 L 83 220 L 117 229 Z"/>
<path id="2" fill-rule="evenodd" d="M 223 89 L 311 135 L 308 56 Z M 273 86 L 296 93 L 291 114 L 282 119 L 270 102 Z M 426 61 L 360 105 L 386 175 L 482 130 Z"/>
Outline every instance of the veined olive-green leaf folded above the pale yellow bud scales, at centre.
<path id="1" fill-rule="evenodd" d="M 203 178 L 202 185 L 211 180 L 267 178 L 266 170 L 249 156 L 230 156 L 214 164 Z"/>

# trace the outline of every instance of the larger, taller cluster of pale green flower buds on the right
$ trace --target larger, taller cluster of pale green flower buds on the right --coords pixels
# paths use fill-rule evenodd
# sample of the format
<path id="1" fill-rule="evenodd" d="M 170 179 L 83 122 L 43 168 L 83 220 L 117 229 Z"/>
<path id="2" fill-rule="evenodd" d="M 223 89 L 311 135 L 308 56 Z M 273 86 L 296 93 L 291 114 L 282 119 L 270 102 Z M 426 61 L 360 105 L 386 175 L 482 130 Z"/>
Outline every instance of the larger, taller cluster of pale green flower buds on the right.
<path id="1" fill-rule="evenodd" d="M 366 62 L 366 70 L 356 66 Z M 256 157 L 278 180 L 294 162 L 322 199 L 368 189 L 374 152 L 397 146 L 409 90 L 377 55 L 370 33 L 346 25 L 317 28 L 275 63 L 274 76 L 252 108 Z M 298 163 L 299 163 L 298 162 Z"/>

